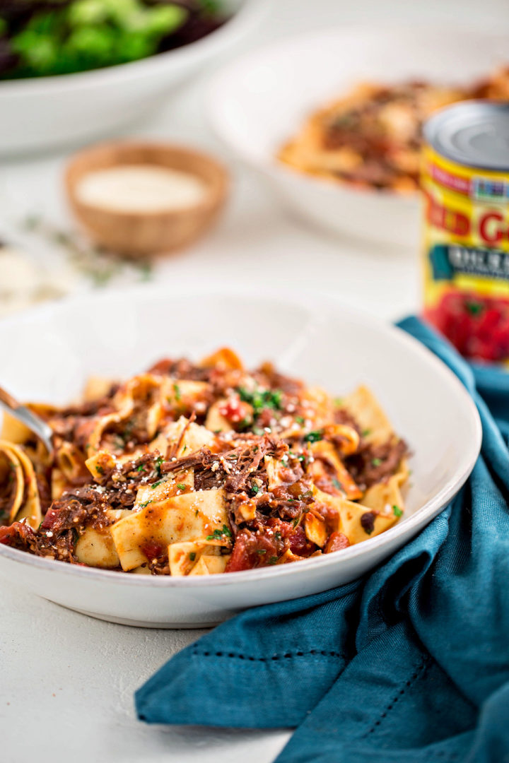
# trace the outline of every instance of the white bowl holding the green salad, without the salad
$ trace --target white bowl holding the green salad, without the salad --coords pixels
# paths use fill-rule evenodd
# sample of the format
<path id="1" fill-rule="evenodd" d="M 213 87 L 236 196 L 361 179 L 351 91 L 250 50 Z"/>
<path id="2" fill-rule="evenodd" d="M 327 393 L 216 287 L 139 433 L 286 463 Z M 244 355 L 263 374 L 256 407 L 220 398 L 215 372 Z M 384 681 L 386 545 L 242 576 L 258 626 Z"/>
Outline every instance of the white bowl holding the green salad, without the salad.
<path id="1" fill-rule="evenodd" d="M 79 143 L 153 110 L 172 88 L 253 30 L 269 0 L 224 0 L 232 18 L 194 43 L 90 72 L 0 82 L 0 156 Z"/>

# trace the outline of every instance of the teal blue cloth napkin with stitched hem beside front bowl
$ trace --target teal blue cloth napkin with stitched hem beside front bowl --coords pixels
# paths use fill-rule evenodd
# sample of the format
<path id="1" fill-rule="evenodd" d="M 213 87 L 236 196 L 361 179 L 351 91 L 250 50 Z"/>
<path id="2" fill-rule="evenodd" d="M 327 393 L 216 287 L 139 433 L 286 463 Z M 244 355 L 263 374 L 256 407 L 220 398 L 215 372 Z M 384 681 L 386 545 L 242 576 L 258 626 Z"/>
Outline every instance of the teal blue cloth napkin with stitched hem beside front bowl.
<path id="1" fill-rule="evenodd" d="M 188 646 L 137 691 L 141 720 L 298 726 L 278 763 L 509 761 L 509 375 L 468 365 L 417 318 L 399 325 L 477 404 L 466 486 L 371 575 Z"/>

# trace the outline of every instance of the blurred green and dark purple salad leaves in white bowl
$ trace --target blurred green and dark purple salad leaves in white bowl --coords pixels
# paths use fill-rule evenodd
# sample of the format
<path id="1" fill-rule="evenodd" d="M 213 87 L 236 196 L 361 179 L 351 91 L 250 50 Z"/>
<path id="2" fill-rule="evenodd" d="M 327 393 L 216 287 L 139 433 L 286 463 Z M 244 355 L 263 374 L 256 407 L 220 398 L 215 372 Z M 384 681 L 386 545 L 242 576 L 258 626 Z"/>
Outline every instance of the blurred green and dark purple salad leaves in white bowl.
<path id="1" fill-rule="evenodd" d="M 211 0 L 188 7 L 149 0 L 61 0 L 56 7 L 35 2 L 22 24 L 9 28 L 0 16 L 0 37 L 8 40 L 9 57 L 16 61 L 5 73 L 0 60 L 0 78 L 67 74 L 136 61 L 166 49 L 165 44 L 185 44 L 185 38 L 163 43 L 190 18 L 201 19 L 201 34 L 208 34 L 223 21 L 215 14 L 221 14 L 220 4 Z"/>

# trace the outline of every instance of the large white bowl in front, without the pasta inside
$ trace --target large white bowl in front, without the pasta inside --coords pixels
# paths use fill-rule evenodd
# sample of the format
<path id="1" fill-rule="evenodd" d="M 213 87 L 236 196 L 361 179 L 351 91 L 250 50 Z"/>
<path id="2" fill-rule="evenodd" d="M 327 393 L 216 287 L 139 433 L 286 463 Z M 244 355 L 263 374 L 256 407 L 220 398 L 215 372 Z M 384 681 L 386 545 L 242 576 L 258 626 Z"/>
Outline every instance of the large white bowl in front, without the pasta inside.
<path id="1" fill-rule="evenodd" d="M 117 623 L 210 625 L 246 607 L 325 591 L 369 571 L 430 522 L 469 476 L 481 425 L 456 376 L 401 330 L 307 293 L 253 297 L 209 286 L 173 289 L 170 296 L 166 288 L 140 287 L 41 307 L 0 322 L 0 384 L 21 399 L 64 403 L 89 375 L 132 375 L 160 357 L 198 359 L 225 344 L 248 366 L 273 359 L 284 372 L 333 394 L 369 385 L 411 448 L 404 518 L 340 552 L 195 578 L 84 568 L 0 545 L 0 584 L 13 581 Z"/>

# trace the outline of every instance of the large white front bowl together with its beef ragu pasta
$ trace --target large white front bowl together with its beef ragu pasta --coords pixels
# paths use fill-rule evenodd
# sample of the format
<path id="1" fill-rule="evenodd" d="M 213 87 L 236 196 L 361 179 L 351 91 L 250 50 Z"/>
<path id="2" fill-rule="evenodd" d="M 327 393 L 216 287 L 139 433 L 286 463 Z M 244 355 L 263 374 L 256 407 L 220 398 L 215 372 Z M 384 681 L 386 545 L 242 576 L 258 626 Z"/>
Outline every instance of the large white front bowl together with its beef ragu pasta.
<path id="1" fill-rule="evenodd" d="M 306 293 L 85 296 L 2 321 L 0 349 L 54 446 L 5 415 L 2 584 L 114 622 L 205 626 L 350 581 L 480 446 L 441 362 Z"/>

